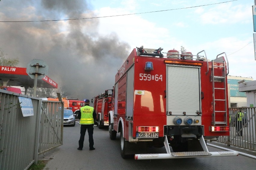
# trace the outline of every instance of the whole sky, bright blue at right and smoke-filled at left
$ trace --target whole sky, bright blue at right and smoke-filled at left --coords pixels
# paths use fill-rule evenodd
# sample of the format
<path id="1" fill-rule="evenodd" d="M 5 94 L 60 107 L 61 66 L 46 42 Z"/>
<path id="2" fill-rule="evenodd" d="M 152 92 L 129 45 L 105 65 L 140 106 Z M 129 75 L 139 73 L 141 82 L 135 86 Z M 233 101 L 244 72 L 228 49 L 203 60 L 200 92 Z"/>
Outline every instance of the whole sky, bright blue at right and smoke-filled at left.
<path id="1" fill-rule="evenodd" d="M 44 60 L 58 89 L 81 100 L 112 89 L 117 70 L 142 45 L 205 50 L 210 60 L 225 52 L 229 75 L 256 80 L 254 0 L 227 1 L 2 0 L 0 48 L 19 58 L 17 67 Z"/>

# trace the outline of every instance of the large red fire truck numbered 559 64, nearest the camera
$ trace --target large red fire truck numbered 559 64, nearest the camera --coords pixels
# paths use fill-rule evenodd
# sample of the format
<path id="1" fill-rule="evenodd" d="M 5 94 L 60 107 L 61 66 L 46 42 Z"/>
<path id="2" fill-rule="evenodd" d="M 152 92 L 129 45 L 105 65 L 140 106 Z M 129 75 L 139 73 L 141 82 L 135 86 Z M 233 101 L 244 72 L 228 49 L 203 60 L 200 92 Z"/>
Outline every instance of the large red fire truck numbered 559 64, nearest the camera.
<path id="1" fill-rule="evenodd" d="M 238 155 L 209 152 L 206 145 L 206 140 L 229 135 L 226 53 L 209 61 L 204 50 L 196 55 L 183 47 L 181 53 L 162 50 L 134 48 L 115 76 L 109 135 L 114 140 L 120 132 L 121 156 Z M 165 146 L 166 153 L 147 153 L 147 146 Z"/>

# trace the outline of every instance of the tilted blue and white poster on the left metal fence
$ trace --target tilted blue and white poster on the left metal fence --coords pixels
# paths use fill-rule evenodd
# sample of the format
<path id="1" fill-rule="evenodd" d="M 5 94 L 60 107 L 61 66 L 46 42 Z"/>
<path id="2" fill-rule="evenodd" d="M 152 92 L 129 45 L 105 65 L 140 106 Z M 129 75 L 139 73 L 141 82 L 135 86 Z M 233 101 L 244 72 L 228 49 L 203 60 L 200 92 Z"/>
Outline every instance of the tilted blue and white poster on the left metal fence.
<path id="1" fill-rule="evenodd" d="M 20 97 L 20 96 L 18 98 L 19 98 L 20 108 L 21 108 L 23 117 L 33 116 L 34 115 L 34 108 L 33 108 L 31 98 Z"/>

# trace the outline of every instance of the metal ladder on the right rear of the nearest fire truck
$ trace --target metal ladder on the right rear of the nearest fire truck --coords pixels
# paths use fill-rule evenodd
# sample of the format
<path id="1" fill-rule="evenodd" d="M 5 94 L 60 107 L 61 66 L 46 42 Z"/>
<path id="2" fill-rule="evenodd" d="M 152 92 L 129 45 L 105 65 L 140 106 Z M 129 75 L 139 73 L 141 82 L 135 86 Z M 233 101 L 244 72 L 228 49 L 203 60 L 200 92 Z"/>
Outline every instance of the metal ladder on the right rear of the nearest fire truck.
<path id="1" fill-rule="evenodd" d="M 227 55 L 226 55 L 226 53 L 225 52 L 223 52 L 223 53 L 221 53 L 221 54 L 225 54 L 225 56 L 226 56 L 226 60 L 227 60 Z M 217 57 L 216 57 L 216 59 L 215 60 L 212 60 L 212 75 L 211 75 L 211 77 L 212 77 L 212 92 L 213 92 L 213 94 L 212 94 L 212 105 L 213 105 L 213 113 L 212 113 L 212 125 L 213 126 L 215 126 L 215 125 L 224 125 L 224 126 L 227 126 L 227 116 L 228 116 L 228 110 L 227 110 L 227 88 L 226 88 L 226 76 L 229 74 L 229 67 L 228 67 L 228 60 L 227 60 L 227 73 L 226 73 L 226 65 L 225 65 L 225 61 L 223 60 L 223 57 L 219 57 L 218 58 L 218 56 L 219 55 L 221 55 L 221 54 L 218 54 L 217 55 Z M 216 65 L 216 64 L 214 64 L 214 63 L 223 63 L 223 64 L 220 64 L 220 65 Z M 218 67 L 221 67 L 221 68 L 223 68 L 222 69 L 222 75 L 220 76 L 220 75 L 216 75 L 215 74 L 215 72 L 214 72 L 214 70 L 216 69 L 216 68 L 218 68 Z M 223 88 L 217 88 L 217 87 L 215 87 L 215 84 L 217 83 L 217 82 L 223 82 Z M 223 90 L 224 91 L 224 98 L 215 98 L 215 90 Z M 216 108 L 215 108 L 215 101 L 223 101 L 224 102 L 224 104 L 225 104 L 225 107 L 224 107 L 224 110 L 216 110 Z M 224 114 L 224 121 L 216 121 L 216 114 L 218 114 L 218 113 L 226 113 L 226 114 Z"/>

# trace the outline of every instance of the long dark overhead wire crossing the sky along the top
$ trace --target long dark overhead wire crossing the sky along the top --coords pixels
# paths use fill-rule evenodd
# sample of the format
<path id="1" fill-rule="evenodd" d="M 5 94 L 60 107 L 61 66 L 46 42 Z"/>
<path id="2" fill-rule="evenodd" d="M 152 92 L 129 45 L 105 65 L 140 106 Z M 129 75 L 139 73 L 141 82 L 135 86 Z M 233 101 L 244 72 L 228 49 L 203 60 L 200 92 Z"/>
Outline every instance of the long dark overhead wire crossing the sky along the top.
<path id="1" fill-rule="evenodd" d="M 237 0 L 232 0 L 232 1 L 237 1 Z M 41 20 L 41 21 L 0 21 L 0 22 L 45 22 L 45 21 L 68 21 L 68 20 L 77 20 L 77 19 L 95 19 L 95 18 L 106 18 L 106 17 L 113 17 L 113 16 L 126 16 L 126 15 L 135 15 L 135 14 L 144 14 L 144 13 L 163 12 L 163 11 L 170 11 L 170 10 L 181 10 L 181 9 L 188 9 L 188 8 L 195 8 L 195 7 L 203 7 L 203 6 L 208 6 L 208 5 L 223 4 L 223 3 L 232 2 L 232 1 L 219 2 L 219 3 L 207 4 L 207 5 L 199 5 L 199 6 L 193 6 L 193 7 L 176 8 L 176 9 L 169 9 L 169 10 L 159 10 L 159 11 L 142 12 L 142 13 L 130 13 L 130 14 L 111 15 L 111 16 L 98 16 L 98 17 L 90 17 L 90 18 L 56 19 L 56 20 Z"/>

